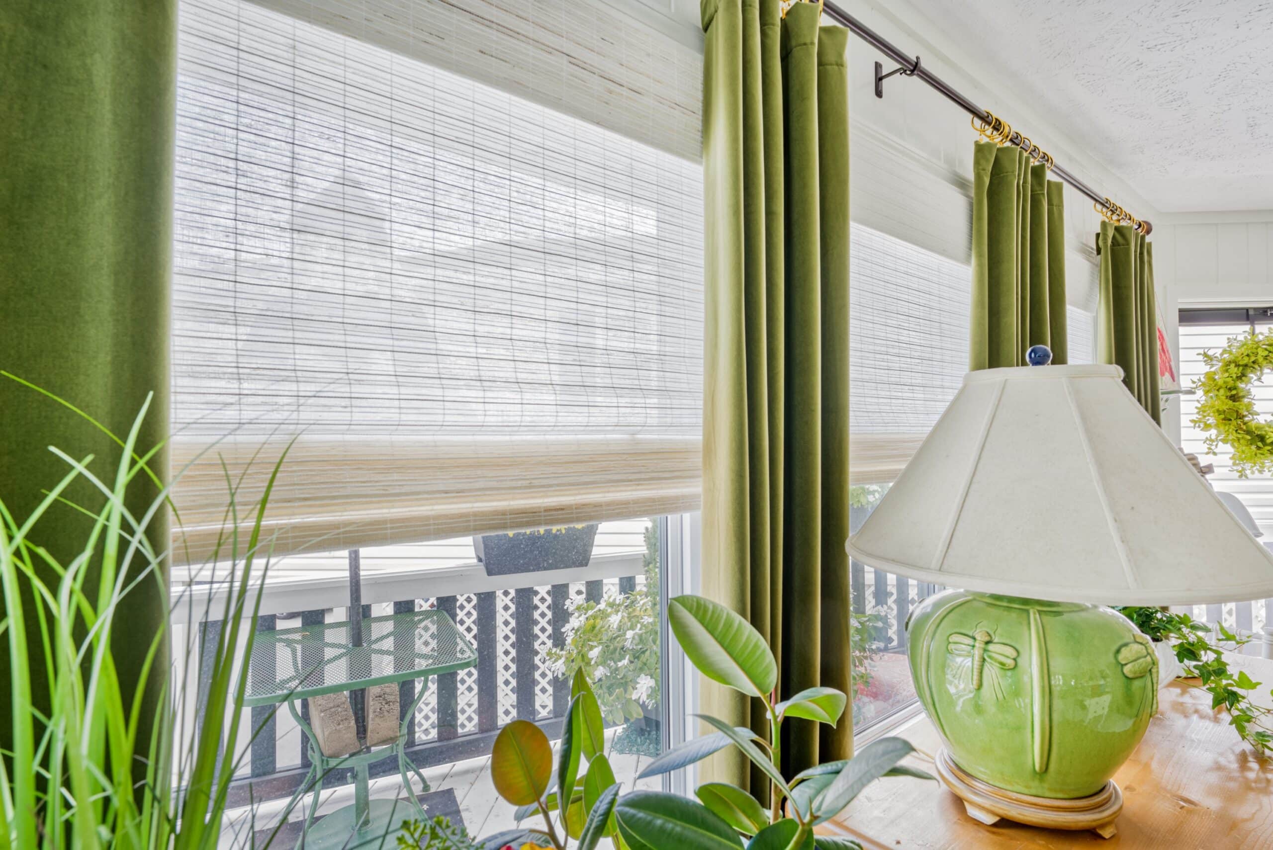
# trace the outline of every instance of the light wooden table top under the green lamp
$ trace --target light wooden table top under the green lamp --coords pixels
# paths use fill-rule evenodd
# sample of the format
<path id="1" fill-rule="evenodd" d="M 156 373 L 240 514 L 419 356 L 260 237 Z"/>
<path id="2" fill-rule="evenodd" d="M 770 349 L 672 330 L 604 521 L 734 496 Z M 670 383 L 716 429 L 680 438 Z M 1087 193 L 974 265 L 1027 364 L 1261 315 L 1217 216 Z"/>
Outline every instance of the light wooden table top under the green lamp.
<path id="1" fill-rule="evenodd" d="M 1268 705 L 1273 662 L 1235 659 L 1258 682 Z M 1273 758 L 1260 760 L 1211 710 L 1197 681 L 1175 681 L 1161 692 L 1160 711 L 1114 780 L 1123 789 L 1118 835 L 1040 830 L 999 821 L 983 826 L 937 781 L 882 779 L 872 783 L 838 818 L 829 835 L 857 839 L 869 850 L 1268 850 L 1273 847 Z M 927 716 L 895 732 L 917 749 L 936 755 L 941 739 Z M 915 755 L 906 763 L 933 772 Z"/>

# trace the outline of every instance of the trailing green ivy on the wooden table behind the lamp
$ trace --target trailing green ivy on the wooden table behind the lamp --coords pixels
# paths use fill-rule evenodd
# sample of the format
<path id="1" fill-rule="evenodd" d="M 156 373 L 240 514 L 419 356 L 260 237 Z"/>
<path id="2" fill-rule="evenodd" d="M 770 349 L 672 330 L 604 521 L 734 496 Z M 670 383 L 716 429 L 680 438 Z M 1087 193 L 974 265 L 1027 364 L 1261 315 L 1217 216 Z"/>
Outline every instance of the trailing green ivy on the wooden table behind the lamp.
<path id="1" fill-rule="evenodd" d="M 1225 646 L 1239 649 L 1250 643 L 1216 625 L 1220 643 L 1209 640 L 1211 626 L 1199 622 L 1186 613 L 1176 613 L 1148 606 L 1127 606 L 1118 611 L 1136 624 L 1151 640 L 1167 641 L 1184 664 L 1185 671 L 1198 678 L 1199 687 L 1211 695 L 1211 707 L 1228 714 L 1228 725 L 1239 737 L 1259 753 L 1273 749 L 1273 710 L 1251 701 L 1251 693 L 1263 682 L 1254 681 L 1246 671 L 1235 671 L 1225 659 Z M 1269 690 L 1273 696 L 1273 688 Z"/>

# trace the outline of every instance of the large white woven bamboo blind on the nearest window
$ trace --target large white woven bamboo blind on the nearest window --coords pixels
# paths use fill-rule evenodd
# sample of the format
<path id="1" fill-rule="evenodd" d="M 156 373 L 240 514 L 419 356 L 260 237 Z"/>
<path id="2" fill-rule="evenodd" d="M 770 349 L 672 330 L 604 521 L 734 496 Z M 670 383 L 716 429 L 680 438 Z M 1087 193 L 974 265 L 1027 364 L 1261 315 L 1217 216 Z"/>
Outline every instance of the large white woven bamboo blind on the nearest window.
<path id="1" fill-rule="evenodd" d="M 698 163 L 241 0 L 179 57 L 179 560 L 292 439 L 275 554 L 696 506 Z"/>

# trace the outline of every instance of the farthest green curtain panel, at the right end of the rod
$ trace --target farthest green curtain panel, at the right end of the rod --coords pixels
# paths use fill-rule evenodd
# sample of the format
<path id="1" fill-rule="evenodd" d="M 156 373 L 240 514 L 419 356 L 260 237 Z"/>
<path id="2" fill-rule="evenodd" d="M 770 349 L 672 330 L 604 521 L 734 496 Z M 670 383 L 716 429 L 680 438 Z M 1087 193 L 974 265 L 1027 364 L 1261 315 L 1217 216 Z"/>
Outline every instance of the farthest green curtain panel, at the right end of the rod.
<path id="1" fill-rule="evenodd" d="M 1161 425 L 1153 246 L 1128 224 L 1101 221 L 1096 252 L 1101 262 L 1096 359 L 1122 366 L 1123 383 Z"/>

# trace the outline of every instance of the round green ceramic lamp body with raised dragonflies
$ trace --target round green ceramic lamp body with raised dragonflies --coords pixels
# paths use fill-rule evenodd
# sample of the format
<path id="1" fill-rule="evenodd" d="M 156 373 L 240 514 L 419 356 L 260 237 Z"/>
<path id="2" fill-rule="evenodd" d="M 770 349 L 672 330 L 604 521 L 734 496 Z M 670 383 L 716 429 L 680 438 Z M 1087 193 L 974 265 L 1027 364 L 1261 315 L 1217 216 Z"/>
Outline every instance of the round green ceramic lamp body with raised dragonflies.
<path id="1" fill-rule="evenodd" d="M 1110 608 L 947 590 L 908 631 L 952 763 L 1008 794 L 1101 794 L 1157 711 L 1153 646 Z"/>

